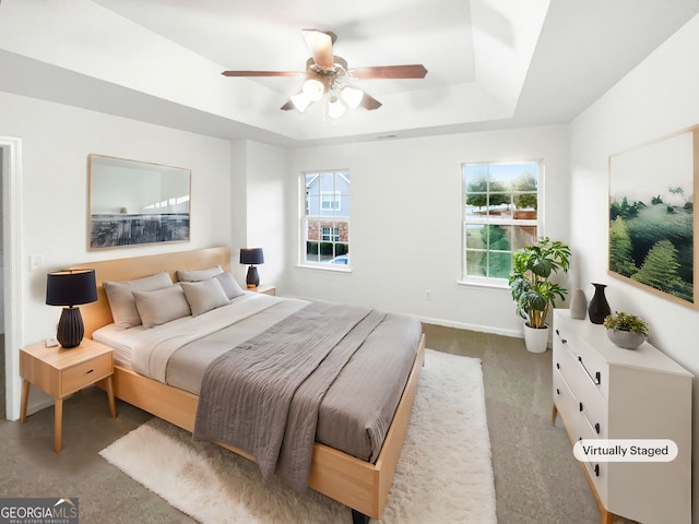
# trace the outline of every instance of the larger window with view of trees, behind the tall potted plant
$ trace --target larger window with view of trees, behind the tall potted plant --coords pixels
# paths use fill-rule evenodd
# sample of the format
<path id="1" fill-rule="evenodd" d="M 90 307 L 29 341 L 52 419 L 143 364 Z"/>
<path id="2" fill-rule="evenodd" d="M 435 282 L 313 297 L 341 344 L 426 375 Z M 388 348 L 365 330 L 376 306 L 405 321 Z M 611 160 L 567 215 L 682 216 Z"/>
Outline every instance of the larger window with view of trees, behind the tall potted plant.
<path id="1" fill-rule="evenodd" d="M 507 279 L 540 236 L 540 162 L 463 165 L 462 278 Z"/>

